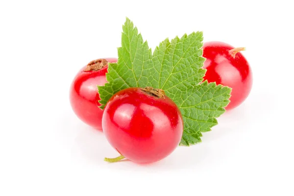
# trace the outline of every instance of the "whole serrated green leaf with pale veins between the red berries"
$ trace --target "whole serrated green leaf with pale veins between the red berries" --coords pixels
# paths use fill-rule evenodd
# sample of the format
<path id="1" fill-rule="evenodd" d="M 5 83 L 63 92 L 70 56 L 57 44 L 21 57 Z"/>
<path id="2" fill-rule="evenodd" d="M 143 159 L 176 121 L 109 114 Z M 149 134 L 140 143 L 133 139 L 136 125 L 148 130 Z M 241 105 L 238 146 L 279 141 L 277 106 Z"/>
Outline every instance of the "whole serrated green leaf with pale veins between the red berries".
<path id="1" fill-rule="evenodd" d="M 162 89 L 177 104 L 184 121 L 181 145 L 201 142 L 225 112 L 231 89 L 203 82 L 202 32 L 164 40 L 153 54 L 133 23 L 123 25 L 118 63 L 110 63 L 105 86 L 98 86 L 103 109 L 115 93 L 128 87 Z"/>

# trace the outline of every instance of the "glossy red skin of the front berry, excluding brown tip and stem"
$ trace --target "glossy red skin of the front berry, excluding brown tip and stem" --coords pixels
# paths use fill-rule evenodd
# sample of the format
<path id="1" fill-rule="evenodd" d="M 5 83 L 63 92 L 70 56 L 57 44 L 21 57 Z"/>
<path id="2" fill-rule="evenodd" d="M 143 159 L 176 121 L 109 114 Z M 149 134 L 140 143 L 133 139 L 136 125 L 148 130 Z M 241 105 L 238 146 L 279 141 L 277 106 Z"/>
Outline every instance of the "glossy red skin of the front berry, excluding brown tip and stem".
<path id="1" fill-rule="evenodd" d="M 102 127 L 107 140 L 131 161 L 159 161 L 180 143 L 182 116 L 168 97 L 155 98 L 139 88 L 128 88 L 115 94 L 104 110 Z"/>

